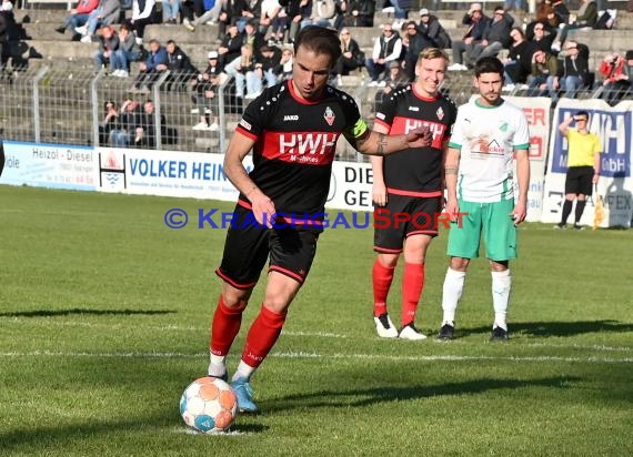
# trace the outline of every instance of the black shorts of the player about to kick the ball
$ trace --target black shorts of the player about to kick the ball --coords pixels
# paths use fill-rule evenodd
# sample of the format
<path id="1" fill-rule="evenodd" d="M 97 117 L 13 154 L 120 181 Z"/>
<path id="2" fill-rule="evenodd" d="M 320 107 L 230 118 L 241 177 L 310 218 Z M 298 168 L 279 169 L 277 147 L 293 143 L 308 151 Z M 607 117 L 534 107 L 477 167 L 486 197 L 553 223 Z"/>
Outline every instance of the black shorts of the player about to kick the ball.
<path id="1" fill-rule="evenodd" d="M 227 233 L 222 263 L 215 271 L 218 276 L 235 288 L 252 288 L 270 255 L 269 271 L 303 284 L 316 253 L 321 228 L 265 228 L 252 221 L 251 210 L 238 204 Z"/>

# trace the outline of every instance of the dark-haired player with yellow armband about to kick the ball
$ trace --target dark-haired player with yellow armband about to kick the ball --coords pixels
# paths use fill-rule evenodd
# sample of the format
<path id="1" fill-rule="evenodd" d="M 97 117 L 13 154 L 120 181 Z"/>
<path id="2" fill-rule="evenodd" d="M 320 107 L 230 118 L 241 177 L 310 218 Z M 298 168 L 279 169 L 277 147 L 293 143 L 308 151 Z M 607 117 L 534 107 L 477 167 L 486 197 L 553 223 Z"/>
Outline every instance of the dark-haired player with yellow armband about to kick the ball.
<path id="1" fill-rule="evenodd" d="M 402 135 L 370 131 L 354 100 L 326 85 L 340 54 L 335 30 L 303 28 L 292 79 L 249 104 L 224 158 L 224 173 L 240 196 L 217 270 L 223 284 L 211 325 L 210 376 L 227 377 L 227 354 L 269 261 L 264 301 L 231 383 L 242 412 L 257 410 L 250 378 L 275 344 L 312 265 L 339 135 L 361 153 L 380 155 L 431 142 L 425 129 Z M 247 173 L 242 160 L 251 150 L 254 167 Z"/>

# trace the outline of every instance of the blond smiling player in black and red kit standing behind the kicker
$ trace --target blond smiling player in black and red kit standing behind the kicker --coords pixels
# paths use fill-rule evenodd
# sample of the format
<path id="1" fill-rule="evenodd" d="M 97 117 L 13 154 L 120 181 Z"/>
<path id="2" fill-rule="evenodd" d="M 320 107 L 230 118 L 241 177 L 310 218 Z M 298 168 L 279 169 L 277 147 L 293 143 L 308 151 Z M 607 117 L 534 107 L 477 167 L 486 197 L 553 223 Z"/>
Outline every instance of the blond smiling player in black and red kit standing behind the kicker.
<path id="1" fill-rule="evenodd" d="M 424 339 L 414 325 L 418 302 L 424 287 L 424 257 L 438 235 L 443 205 L 443 161 L 458 109 L 439 93 L 449 62 L 444 51 L 423 50 L 415 64 L 415 82 L 396 88 L 376 112 L 374 131 L 400 134 L 425 126 L 432 143 L 410 148 L 389 158 L 372 156 L 374 251 L 372 268 L 374 323 L 381 337 Z M 446 220 L 448 222 L 448 220 Z M 400 254 L 404 254 L 402 278 L 402 327 L 391 322 L 386 296 Z"/>

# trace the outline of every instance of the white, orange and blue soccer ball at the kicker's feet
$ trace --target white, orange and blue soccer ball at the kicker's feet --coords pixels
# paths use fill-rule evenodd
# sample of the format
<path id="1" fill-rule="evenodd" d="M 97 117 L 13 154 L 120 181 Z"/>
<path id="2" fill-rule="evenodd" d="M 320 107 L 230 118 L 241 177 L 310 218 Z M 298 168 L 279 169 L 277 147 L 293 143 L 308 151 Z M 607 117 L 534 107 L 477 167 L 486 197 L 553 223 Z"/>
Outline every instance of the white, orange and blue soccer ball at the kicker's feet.
<path id="1" fill-rule="evenodd" d="M 180 415 L 188 426 L 198 431 L 227 431 L 238 415 L 238 398 L 222 379 L 201 377 L 182 393 Z"/>

